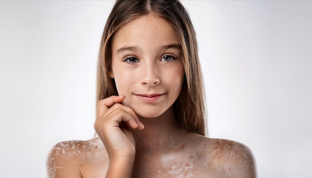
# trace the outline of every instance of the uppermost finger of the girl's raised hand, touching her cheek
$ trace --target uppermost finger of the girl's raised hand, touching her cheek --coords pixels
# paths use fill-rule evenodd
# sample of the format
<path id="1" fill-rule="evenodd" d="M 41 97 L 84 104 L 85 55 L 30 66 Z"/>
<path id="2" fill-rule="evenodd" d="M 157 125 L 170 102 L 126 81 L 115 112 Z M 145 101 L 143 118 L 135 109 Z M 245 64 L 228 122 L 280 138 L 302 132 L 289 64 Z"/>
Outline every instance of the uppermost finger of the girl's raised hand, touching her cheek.
<path id="1" fill-rule="evenodd" d="M 105 99 L 99 100 L 97 105 L 97 115 L 102 115 L 108 108 L 112 107 L 115 103 L 122 102 L 125 99 L 123 95 L 113 95 Z"/>

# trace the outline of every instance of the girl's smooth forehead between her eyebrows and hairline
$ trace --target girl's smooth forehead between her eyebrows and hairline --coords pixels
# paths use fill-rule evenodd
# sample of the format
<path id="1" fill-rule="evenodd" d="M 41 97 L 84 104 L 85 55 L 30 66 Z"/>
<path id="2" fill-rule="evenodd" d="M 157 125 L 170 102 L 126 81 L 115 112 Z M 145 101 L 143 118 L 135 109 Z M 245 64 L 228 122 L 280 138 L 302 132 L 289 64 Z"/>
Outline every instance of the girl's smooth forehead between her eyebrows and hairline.
<path id="1" fill-rule="evenodd" d="M 163 43 L 179 44 L 180 40 L 170 22 L 152 14 L 130 20 L 112 39 L 113 48 L 116 45 L 163 45 Z"/>

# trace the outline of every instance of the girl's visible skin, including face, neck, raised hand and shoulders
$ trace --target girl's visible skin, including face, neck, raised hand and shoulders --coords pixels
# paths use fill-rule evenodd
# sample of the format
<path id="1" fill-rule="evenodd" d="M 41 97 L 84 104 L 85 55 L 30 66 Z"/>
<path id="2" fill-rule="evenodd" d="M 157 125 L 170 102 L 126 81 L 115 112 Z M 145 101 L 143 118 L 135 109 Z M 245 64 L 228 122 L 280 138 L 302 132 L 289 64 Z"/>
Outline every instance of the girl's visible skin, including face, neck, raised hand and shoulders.
<path id="1" fill-rule="evenodd" d="M 109 71 L 120 95 L 98 102 L 98 138 L 53 148 L 49 178 L 255 178 L 246 146 L 177 125 L 172 104 L 184 77 L 180 50 L 172 25 L 155 15 L 121 27 Z"/>

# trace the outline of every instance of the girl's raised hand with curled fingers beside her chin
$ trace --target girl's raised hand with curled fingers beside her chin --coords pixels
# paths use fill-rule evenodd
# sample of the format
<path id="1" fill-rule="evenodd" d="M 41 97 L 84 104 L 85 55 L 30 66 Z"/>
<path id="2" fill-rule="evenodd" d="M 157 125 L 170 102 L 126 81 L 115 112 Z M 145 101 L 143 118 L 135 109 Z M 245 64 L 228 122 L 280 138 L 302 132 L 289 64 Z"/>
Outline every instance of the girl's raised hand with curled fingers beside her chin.
<path id="1" fill-rule="evenodd" d="M 97 117 L 94 128 L 102 140 L 107 153 L 112 159 L 133 158 L 135 156 L 135 140 L 129 127 L 144 128 L 136 112 L 121 102 L 125 96 L 110 96 L 98 102 Z"/>

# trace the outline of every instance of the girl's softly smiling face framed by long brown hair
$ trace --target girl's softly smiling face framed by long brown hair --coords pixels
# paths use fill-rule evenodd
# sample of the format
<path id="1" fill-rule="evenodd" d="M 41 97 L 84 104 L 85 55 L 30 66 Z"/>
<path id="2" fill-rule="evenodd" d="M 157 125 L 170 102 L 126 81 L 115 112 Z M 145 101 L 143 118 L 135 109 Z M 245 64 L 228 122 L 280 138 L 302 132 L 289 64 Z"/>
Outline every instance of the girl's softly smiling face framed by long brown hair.
<path id="1" fill-rule="evenodd" d="M 123 104 L 147 118 L 157 117 L 178 97 L 184 67 L 181 45 L 172 25 L 144 15 L 121 27 L 112 41 L 112 71 Z"/>

